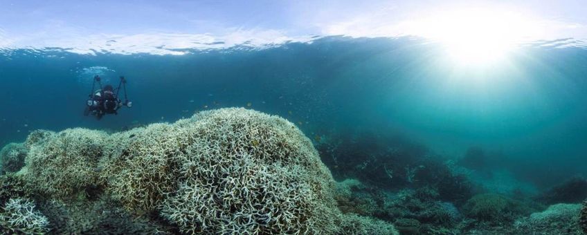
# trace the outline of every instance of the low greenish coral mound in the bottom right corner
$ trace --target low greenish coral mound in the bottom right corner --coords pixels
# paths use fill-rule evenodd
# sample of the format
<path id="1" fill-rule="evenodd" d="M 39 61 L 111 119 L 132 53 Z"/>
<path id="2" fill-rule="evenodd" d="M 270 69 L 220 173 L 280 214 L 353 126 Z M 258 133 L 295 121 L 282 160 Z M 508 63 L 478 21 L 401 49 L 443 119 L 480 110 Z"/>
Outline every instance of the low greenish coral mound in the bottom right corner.
<path id="1" fill-rule="evenodd" d="M 579 204 L 551 205 L 544 212 L 516 220 L 514 234 L 581 234 Z"/>

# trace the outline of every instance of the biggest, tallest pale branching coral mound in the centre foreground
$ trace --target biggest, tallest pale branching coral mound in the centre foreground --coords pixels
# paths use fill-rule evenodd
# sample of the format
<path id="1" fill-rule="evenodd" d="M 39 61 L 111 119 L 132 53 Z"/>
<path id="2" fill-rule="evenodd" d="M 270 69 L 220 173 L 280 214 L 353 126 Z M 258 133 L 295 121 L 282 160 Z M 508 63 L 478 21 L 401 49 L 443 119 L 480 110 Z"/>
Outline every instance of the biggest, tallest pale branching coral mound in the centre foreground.
<path id="1" fill-rule="evenodd" d="M 246 109 L 177 123 L 192 140 L 162 214 L 186 233 L 332 234 L 334 180 L 293 124 Z"/>

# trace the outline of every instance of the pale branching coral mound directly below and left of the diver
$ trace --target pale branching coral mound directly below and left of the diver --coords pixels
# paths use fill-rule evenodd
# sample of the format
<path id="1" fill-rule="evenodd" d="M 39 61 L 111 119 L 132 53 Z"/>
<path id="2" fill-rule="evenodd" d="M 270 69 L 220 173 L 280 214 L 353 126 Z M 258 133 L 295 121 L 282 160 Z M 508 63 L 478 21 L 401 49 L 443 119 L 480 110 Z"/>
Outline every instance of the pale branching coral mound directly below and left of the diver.
<path id="1" fill-rule="evenodd" d="M 43 141 L 37 135 L 43 136 Z M 30 188 L 63 198 L 96 185 L 98 160 L 102 156 L 102 131 L 67 129 L 60 133 L 29 136 L 24 178 Z"/>

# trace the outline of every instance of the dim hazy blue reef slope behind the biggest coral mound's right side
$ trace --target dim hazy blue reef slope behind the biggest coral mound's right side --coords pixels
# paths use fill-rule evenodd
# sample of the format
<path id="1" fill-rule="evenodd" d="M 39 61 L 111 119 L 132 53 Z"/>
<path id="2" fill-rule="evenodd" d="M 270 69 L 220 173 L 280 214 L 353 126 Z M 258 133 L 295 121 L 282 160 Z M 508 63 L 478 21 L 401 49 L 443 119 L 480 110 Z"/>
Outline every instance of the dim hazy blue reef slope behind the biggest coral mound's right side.
<path id="1" fill-rule="evenodd" d="M 420 144 L 381 131 L 342 133 L 318 142 L 323 162 L 336 179 L 356 178 L 381 189 L 434 187 L 442 200 L 461 204 L 473 195 L 463 172 Z M 327 141 L 328 140 L 328 141 Z"/>

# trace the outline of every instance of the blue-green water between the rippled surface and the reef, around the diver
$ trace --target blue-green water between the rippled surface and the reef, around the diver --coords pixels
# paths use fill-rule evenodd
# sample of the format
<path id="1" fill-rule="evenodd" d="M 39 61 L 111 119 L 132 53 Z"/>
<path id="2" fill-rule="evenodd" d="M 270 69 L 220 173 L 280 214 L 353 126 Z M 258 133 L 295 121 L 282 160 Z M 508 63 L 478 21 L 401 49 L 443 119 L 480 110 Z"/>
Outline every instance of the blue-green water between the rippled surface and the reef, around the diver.
<path id="1" fill-rule="evenodd" d="M 394 133 L 444 158 L 482 147 L 503 156 L 498 167 L 548 187 L 587 173 L 587 50 L 544 44 L 521 46 L 506 64 L 486 68 L 455 67 L 440 45 L 409 37 L 187 55 L 4 49 L 0 145 L 35 129 L 120 131 L 244 106 L 287 118 L 310 138 Z M 84 117 L 93 75 L 115 85 L 127 77 L 132 109 Z"/>

